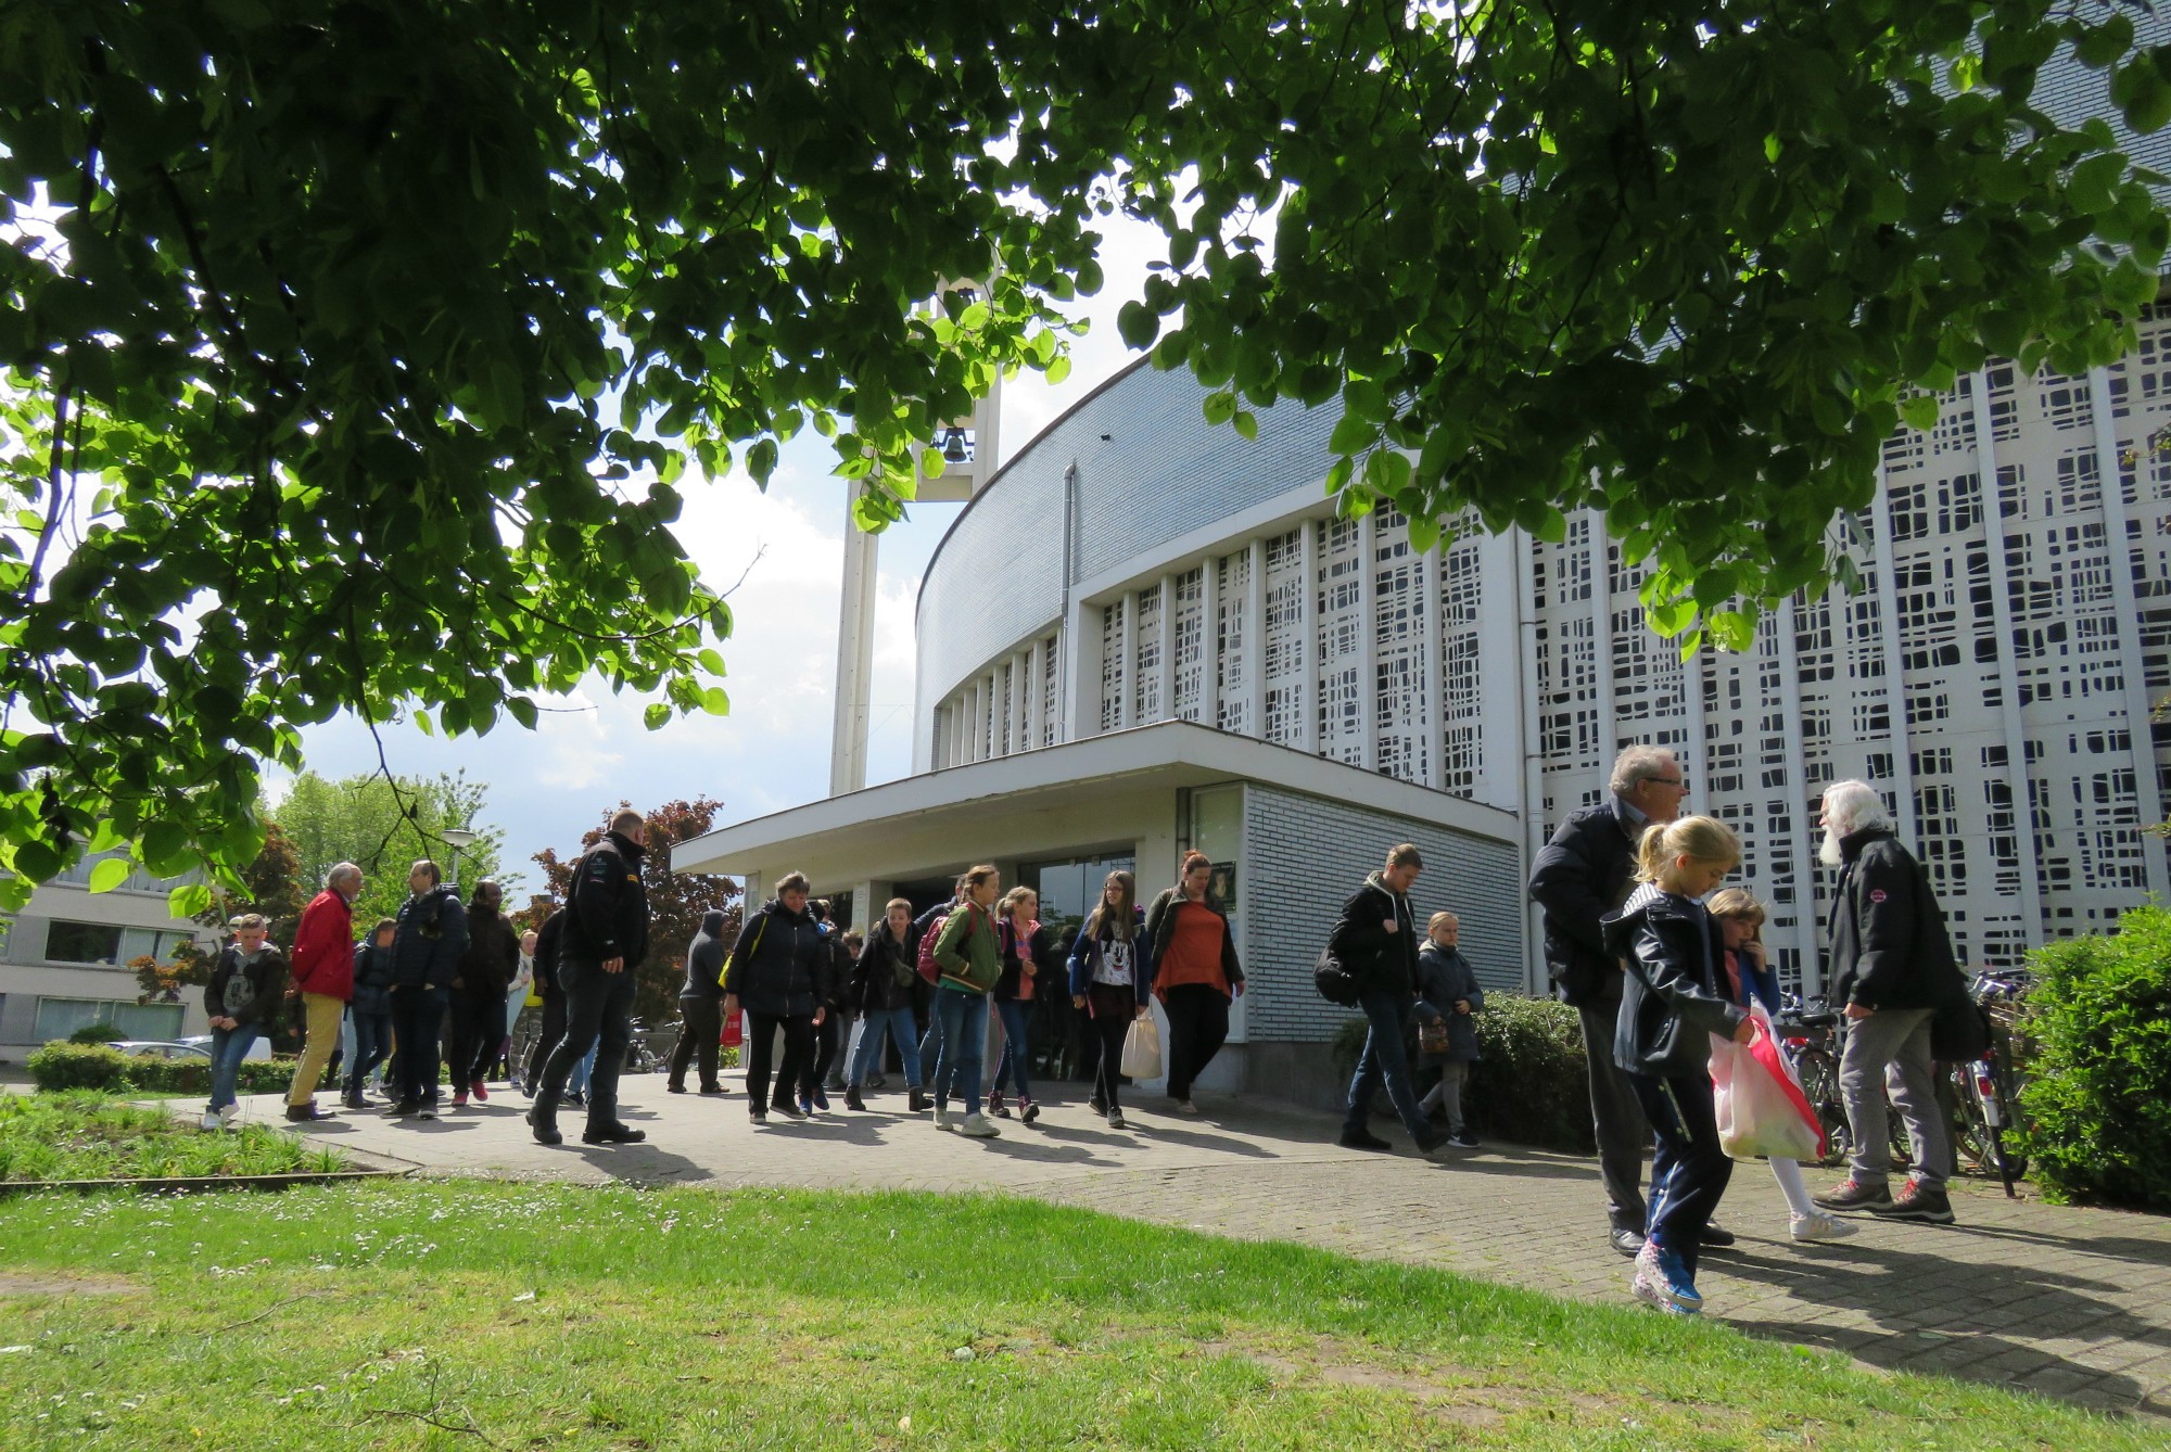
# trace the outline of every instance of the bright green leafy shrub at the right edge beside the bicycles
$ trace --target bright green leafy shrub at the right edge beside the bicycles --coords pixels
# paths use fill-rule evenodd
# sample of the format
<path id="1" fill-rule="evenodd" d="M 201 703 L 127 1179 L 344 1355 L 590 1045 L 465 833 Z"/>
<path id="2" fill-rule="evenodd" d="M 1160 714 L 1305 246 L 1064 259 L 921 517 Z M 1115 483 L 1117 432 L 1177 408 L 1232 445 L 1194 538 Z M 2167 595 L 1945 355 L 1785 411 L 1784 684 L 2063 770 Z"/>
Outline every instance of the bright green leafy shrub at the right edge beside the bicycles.
<path id="1" fill-rule="evenodd" d="M 2023 1146 L 2054 1200 L 2171 1209 L 2171 909 L 2030 955 Z"/>

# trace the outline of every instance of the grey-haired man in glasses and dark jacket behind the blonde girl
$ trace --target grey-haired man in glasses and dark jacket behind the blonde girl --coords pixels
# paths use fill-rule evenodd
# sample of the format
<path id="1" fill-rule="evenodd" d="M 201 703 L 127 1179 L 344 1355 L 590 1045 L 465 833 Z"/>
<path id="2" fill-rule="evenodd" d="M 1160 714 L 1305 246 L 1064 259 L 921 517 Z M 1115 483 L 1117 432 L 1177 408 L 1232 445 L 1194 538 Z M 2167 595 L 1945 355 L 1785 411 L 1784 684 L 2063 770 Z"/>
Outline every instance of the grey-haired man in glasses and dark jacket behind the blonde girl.
<path id="1" fill-rule="evenodd" d="M 1665 747 L 1628 747 L 1613 762 L 1604 801 L 1570 812 L 1537 853 L 1531 899 L 1546 909 L 1546 968 L 1552 990 L 1576 1009 L 1591 1087 L 1598 1168 L 1607 1185 L 1609 1239 L 1626 1257 L 1643 1250 L 1643 1148 L 1650 1126 L 1635 1085 L 1613 1063 L 1622 966 L 1607 953 L 1600 918 L 1628 901 L 1635 846 L 1652 823 L 1680 816 L 1689 797 L 1680 762 Z M 1706 1246 L 1730 1246 L 1711 1226 Z"/>

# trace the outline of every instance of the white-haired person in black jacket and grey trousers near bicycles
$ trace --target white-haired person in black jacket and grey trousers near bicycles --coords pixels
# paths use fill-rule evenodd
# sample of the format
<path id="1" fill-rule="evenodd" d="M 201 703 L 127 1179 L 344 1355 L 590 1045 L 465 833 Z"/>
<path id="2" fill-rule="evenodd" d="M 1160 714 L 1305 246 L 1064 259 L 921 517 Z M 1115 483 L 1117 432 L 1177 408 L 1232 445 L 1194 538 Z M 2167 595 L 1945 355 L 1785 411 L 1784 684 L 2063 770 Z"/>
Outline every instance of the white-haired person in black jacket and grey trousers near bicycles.
<path id="1" fill-rule="evenodd" d="M 1952 1224 L 1945 1181 L 1952 1135 L 1937 1103 L 1930 1068 L 1930 1018 L 1958 988 L 1960 970 L 1945 935 L 1945 914 L 1921 864 L 1893 836 L 1884 799 L 1867 781 L 1824 788 L 1824 846 L 1817 857 L 1839 868 L 1828 933 L 1832 1003 L 1848 1016 L 1839 1059 L 1839 1098 L 1854 1139 L 1852 1170 L 1817 1205 L 1869 1211 L 1887 1220 Z M 1891 1107 L 1915 1146 L 1915 1176 L 1891 1194 Z"/>

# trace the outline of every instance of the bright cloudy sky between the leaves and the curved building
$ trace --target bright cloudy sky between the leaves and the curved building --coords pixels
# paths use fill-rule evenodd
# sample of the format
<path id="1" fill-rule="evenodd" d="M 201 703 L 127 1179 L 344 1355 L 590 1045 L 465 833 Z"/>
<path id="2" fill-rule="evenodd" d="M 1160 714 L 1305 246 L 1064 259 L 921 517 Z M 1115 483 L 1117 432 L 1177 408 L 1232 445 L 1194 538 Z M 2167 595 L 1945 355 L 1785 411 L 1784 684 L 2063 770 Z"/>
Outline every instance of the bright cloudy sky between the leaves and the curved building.
<path id="1" fill-rule="evenodd" d="M 1116 336 L 1116 308 L 1138 295 L 1148 258 L 1166 256 L 1159 234 L 1109 226 L 1103 245 L 1107 286 L 1083 300 L 1092 321 L 1070 341 L 1072 373 L 1051 389 L 1033 373 L 1003 384 L 1005 458 L 1057 415 L 1131 360 Z M 677 536 L 701 575 L 745 582 L 732 595 L 734 634 L 723 645 L 729 716 L 684 716 L 660 731 L 640 725 L 651 697 L 623 695 L 591 679 L 543 714 L 534 731 L 504 721 L 484 738 L 443 740 L 410 725 L 384 729 L 384 755 L 402 775 L 465 768 L 488 788 L 484 825 L 506 833 L 506 866 L 541 883 L 530 857 L 545 846 L 567 855 L 604 810 L 621 799 L 651 807 L 680 797 L 725 803 L 719 825 L 764 816 L 825 797 L 836 688 L 836 616 L 845 558 L 842 480 L 827 441 L 812 432 L 784 445 L 769 491 L 745 475 L 682 484 L 686 512 Z M 881 536 L 875 603 L 873 729 L 868 781 L 890 781 L 912 755 L 912 608 L 921 571 L 962 506 L 916 506 Z M 378 747 L 369 729 L 339 716 L 304 734 L 310 770 L 328 777 L 369 773 Z M 271 781 L 274 797 L 278 779 Z M 276 807 L 274 807 L 276 812 Z"/>

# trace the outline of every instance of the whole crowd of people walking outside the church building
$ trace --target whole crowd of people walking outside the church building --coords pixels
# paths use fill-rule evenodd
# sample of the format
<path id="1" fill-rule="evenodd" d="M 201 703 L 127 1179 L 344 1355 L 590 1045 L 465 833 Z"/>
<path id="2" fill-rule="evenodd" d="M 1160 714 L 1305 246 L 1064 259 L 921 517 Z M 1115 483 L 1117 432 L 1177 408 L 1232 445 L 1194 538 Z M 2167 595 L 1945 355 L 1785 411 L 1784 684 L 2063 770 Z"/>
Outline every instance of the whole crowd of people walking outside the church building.
<path id="1" fill-rule="evenodd" d="M 1726 823 L 1685 816 L 1687 797 L 1672 751 L 1630 747 L 1613 764 L 1604 799 L 1552 833 L 1528 892 L 1544 909 L 1554 994 L 1576 1009 L 1583 1033 L 1609 1241 L 1633 1259 L 1639 1300 L 1693 1315 L 1702 1307 L 1700 1250 L 1732 1244 L 1715 1220 L 1732 1159 L 1719 1144 L 1711 1046 L 1748 1042 L 1754 1009 L 1776 1014 L 1780 990 L 1761 942 L 1763 903 L 1722 886 L 1741 862 L 1741 844 Z M 1839 1215 L 1854 1211 L 1950 1224 L 1952 1144 L 1934 1096 L 1932 1022 L 1943 1005 L 1965 998 L 1965 983 L 1943 916 L 1871 786 L 1830 786 L 1819 827 L 1819 859 L 1839 870 L 1828 920 L 1830 1001 L 1850 1022 L 1841 1098 L 1852 1166 L 1845 1181 L 1811 1196 L 1798 1163 L 1772 1161 L 1789 1233 L 1804 1244 L 1837 1239 L 1854 1231 Z M 291 964 L 267 942 L 263 918 L 234 920 L 206 988 L 213 1081 L 204 1126 L 232 1120 L 239 1063 L 293 996 L 306 1044 L 289 1120 L 323 1118 L 313 1087 L 337 1050 L 352 1109 L 365 1107 L 363 1087 L 382 1072 L 391 1113 L 428 1120 L 441 1063 L 454 1107 L 488 1098 L 502 1066 L 532 1096 L 536 1142 L 562 1144 L 558 1113 L 567 1105 L 586 1111 L 586 1144 L 645 1139 L 617 1111 L 634 970 L 649 955 L 645 851 L 640 814 L 619 812 L 573 866 L 564 905 L 525 935 L 502 916 L 497 883 L 478 883 L 462 903 L 428 859 L 412 866 L 397 916 L 380 918 L 360 942 L 352 933 L 363 886 L 354 864 L 332 868 L 304 909 Z M 1355 981 L 1366 1020 L 1344 1096 L 1346 1148 L 1392 1148 L 1370 1129 L 1381 1090 L 1420 1152 L 1476 1146 L 1461 1100 L 1478 1057 L 1474 1016 L 1485 994 L 1459 951 L 1452 912 L 1433 912 L 1418 929 L 1411 890 L 1422 870 L 1413 844 L 1394 846 L 1326 935 L 1322 959 Z M 1229 1007 L 1244 992 L 1235 933 L 1211 883 L 1214 864 L 1185 853 L 1177 883 L 1142 907 L 1133 875 L 1109 873 L 1101 901 L 1059 942 L 1040 922 L 1036 892 L 1005 892 L 988 864 L 962 873 L 951 901 L 923 914 L 905 899 L 890 901 L 864 935 L 840 933 L 812 883 L 786 873 L 729 942 L 727 916 L 703 916 L 686 948 L 684 1031 L 666 1087 L 688 1092 L 693 1072 L 699 1094 L 725 1094 L 719 1042 L 742 1029 L 753 1124 L 827 1111 L 831 1083 L 842 1085 L 847 1111 L 866 1111 L 886 1048 L 894 1048 L 907 1113 L 931 1111 L 936 1129 L 994 1137 L 996 1120 L 1040 1120 L 1031 1011 L 1059 994 L 1083 1016 L 1094 1050 L 1094 1116 L 1127 1126 L 1122 1063 L 1131 1037 L 1151 1024 L 1153 1003 L 1168 1024 L 1159 1070 L 1170 1107 L 1196 1113 L 1192 1085 L 1220 1053 Z M 508 1066 L 512 1022 L 532 996 L 543 1020 L 536 1048 L 528 1063 Z M 1001 1044 L 992 1077 L 983 1063 L 990 1040 Z M 1889 1183 L 1889 1109 L 1915 1146 L 1897 1194 Z"/>

